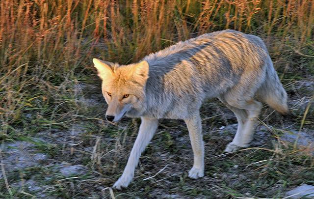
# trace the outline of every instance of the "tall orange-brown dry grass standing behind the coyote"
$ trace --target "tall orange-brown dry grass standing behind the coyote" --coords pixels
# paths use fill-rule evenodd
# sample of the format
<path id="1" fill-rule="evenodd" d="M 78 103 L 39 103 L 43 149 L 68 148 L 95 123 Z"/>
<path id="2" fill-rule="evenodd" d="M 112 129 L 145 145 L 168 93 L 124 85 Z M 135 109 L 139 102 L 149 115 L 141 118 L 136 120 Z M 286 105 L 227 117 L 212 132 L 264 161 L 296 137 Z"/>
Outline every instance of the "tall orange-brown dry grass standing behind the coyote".
<path id="1" fill-rule="evenodd" d="M 60 98 L 66 98 L 74 76 L 90 73 L 91 57 L 130 63 L 178 40 L 225 28 L 284 41 L 293 37 L 300 47 L 313 38 L 314 2 L 1 0 L 3 135 L 13 123 L 22 124 L 25 110 L 38 110 L 39 120 L 67 112 Z"/>

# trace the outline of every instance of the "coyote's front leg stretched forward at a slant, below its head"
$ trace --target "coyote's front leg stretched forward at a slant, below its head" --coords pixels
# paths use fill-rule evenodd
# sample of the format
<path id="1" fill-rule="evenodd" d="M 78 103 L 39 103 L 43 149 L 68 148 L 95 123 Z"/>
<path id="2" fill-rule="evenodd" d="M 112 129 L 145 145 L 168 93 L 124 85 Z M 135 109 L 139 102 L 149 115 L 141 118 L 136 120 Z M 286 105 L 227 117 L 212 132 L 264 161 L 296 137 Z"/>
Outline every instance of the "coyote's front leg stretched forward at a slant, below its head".
<path id="1" fill-rule="evenodd" d="M 144 118 L 139 127 L 137 138 L 134 142 L 131 154 L 121 177 L 114 183 L 113 188 L 121 189 L 127 187 L 134 176 L 134 170 L 137 166 L 138 159 L 145 147 L 152 140 L 158 127 L 158 119 Z"/>

